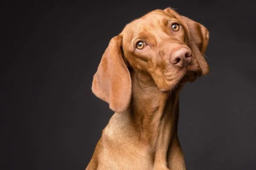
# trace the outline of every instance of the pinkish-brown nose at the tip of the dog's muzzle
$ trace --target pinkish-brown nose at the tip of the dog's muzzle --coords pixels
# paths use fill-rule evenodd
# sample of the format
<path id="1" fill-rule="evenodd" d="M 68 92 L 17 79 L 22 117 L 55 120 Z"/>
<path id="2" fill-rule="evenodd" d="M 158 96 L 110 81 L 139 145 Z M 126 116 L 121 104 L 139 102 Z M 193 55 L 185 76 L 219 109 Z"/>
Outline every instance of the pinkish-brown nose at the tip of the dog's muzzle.
<path id="1" fill-rule="evenodd" d="M 185 67 L 189 65 L 192 58 L 192 51 L 188 48 L 182 47 L 172 52 L 170 62 L 178 67 Z"/>

